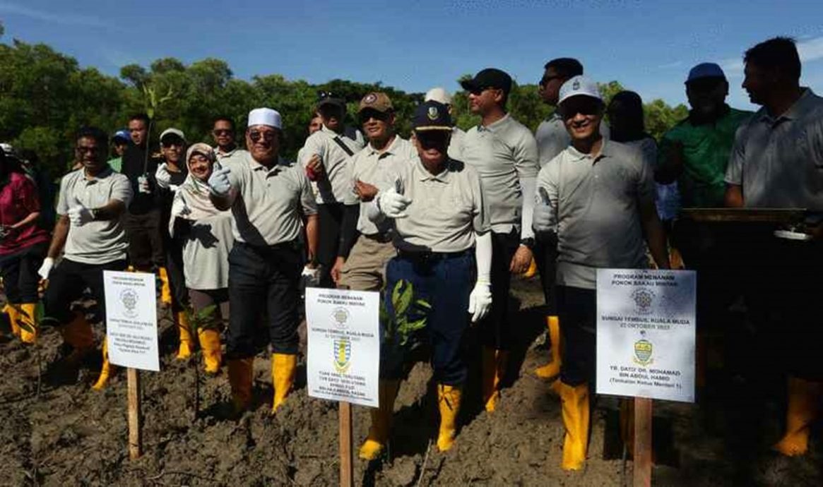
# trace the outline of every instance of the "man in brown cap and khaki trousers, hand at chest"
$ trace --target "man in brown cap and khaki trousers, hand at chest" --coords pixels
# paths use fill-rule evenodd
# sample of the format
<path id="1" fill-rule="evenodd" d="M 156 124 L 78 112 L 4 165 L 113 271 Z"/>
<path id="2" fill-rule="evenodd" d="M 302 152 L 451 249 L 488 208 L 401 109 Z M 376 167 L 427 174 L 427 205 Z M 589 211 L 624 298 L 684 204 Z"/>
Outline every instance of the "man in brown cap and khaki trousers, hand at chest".
<path id="1" fill-rule="evenodd" d="M 375 225 L 360 202 L 371 202 L 379 191 L 393 188 L 393 169 L 412 164 L 417 152 L 394 132 L 394 108 L 385 93 L 365 95 L 358 114 L 369 145 L 351 159 L 351 191 L 345 203 L 359 212 L 353 214 L 356 222 L 349 223 L 344 216 L 341 238 L 345 241 L 332 268 L 332 279 L 351 290 L 379 291 L 385 284 L 386 262 L 395 255 L 392 225 Z"/>

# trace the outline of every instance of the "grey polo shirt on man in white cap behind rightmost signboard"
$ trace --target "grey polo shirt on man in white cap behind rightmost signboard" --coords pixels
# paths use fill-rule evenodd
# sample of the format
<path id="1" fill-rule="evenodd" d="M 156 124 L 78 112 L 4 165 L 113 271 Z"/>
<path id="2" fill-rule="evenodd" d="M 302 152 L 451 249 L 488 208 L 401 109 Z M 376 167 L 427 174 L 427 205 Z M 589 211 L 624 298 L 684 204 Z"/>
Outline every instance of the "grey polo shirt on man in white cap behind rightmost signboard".
<path id="1" fill-rule="evenodd" d="M 598 268 L 648 267 L 639 207 L 653 168 L 636 148 L 604 141 L 596 157 L 568 146 L 537 177 L 557 216 L 557 284 L 595 289 Z"/>

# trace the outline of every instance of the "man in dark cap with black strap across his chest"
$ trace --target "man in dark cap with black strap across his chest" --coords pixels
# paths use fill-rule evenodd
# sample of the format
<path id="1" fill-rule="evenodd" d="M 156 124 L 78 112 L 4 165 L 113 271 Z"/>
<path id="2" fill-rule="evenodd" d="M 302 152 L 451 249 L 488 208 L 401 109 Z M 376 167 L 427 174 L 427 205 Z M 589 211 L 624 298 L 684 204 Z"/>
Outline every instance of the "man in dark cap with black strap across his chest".
<path id="1" fill-rule="evenodd" d="M 317 260 L 320 265 L 319 284 L 333 285 L 331 270 L 341 255 L 340 236 L 346 197 L 351 194 L 348 165 L 351 157 L 363 148 L 357 134 L 347 130 L 346 101 L 332 93 L 321 92 L 317 111 L 323 126 L 306 139 L 298 155 L 298 163 L 311 179 L 319 211 L 320 241 Z M 351 208 L 349 211 L 352 211 Z"/>

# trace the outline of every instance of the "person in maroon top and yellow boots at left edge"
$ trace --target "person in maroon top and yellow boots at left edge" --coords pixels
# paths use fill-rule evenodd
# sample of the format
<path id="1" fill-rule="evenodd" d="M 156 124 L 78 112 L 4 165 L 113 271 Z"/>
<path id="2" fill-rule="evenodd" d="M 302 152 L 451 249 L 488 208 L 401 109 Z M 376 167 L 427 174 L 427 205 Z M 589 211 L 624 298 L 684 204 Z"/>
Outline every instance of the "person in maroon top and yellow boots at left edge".
<path id="1" fill-rule="evenodd" d="M 26 343 L 37 338 L 37 270 L 49 246 L 49 234 L 37 225 L 38 218 L 35 183 L 0 150 L 0 274 L 12 333 Z"/>

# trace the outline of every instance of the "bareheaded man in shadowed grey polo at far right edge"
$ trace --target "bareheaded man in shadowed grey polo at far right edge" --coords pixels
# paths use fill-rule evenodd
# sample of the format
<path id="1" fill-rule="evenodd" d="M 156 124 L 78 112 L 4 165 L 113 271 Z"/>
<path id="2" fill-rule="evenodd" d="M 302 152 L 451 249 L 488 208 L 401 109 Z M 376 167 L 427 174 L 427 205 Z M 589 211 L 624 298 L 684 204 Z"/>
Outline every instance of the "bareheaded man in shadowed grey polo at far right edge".
<path id="1" fill-rule="evenodd" d="M 726 170 L 726 204 L 746 208 L 806 208 L 805 225 L 774 238 L 774 228 L 753 230 L 746 250 L 760 257 L 746 306 L 770 363 L 788 373 L 786 433 L 774 446 L 783 455 L 807 452 L 809 427 L 823 392 L 818 341 L 823 286 L 823 98 L 800 86 L 801 64 L 793 39 L 777 37 L 744 56 L 743 88 L 760 104 L 737 129 Z M 805 233 L 805 234 L 804 234 Z M 805 239 L 805 240 L 804 240 Z M 777 317 L 775 319 L 775 317 Z"/>

